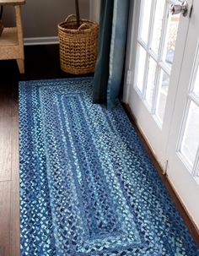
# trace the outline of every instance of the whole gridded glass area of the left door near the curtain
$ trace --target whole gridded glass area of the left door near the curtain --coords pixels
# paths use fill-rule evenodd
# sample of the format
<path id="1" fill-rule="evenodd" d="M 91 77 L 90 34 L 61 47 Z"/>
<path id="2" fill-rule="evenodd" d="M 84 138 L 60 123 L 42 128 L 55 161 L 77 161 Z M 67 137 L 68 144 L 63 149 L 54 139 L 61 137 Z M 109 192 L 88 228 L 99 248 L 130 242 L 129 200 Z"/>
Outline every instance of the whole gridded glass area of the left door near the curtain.
<path id="1" fill-rule="evenodd" d="M 169 14 L 169 5 L 167 0 L 142 0 L 137 36 L 137 75 L 134 87 L 148 107 L 148 111 L 155 117 L 159 128 L 164 122 L 180 19 L 180 14 L 175 16 Z M 148 19 L 146 26 L 143 25 L 144 14 Z M 156 68 L 152 70 L 153 62 L 156 63 Z"/>

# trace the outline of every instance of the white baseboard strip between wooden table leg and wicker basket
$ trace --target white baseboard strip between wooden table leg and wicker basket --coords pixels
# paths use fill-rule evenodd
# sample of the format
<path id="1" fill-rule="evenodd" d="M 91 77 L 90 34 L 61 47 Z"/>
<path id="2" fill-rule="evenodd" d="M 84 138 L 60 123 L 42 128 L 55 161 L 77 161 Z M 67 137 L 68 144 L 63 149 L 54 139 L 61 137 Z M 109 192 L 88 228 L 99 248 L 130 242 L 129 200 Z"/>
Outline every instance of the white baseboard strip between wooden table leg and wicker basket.
<path id="1" fill-rule="evenodd" d="M 59 40 L 57 36 L 24 38 L 24 46 L 54 45 L 58 43 Z"/>

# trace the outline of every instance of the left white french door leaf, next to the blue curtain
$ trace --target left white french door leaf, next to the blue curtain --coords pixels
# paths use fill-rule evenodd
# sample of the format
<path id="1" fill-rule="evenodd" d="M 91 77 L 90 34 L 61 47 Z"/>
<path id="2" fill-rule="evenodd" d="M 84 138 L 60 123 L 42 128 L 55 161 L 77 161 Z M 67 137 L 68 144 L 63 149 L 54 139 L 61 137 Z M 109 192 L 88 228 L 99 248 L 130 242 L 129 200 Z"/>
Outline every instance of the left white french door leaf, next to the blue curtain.
<path id="1" fill-rule="evenodd" d="M 169 7 L 167 0 L 135 1 L 128 67 L 133 86 L 128 84 L 127 102 L 163 167 L 190 22 L 189 15 L 171 15 Z"/>

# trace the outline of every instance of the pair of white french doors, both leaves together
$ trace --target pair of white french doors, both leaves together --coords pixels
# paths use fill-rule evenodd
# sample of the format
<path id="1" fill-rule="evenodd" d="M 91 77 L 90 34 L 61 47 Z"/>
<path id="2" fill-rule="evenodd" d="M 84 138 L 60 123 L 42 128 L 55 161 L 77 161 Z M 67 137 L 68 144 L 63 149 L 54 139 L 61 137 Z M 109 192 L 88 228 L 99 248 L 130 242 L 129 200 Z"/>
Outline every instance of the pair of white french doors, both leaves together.
<path id="1" fill-rule="evenodd" d="M 134 1 L 124 101 L 199 227 L 199 1 L 182 2 Z"/>

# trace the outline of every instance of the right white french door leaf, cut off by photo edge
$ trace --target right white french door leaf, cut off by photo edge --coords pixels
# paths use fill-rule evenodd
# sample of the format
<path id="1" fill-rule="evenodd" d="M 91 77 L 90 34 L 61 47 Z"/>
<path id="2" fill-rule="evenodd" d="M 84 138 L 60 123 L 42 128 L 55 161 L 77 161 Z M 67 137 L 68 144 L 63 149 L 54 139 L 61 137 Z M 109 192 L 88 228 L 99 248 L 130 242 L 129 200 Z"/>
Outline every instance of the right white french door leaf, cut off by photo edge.
<path id="1" fill-rule="evenodd" d="M 199 227 L 199 1 L 194 0 L 167 149 L 168 176 Z"/>

